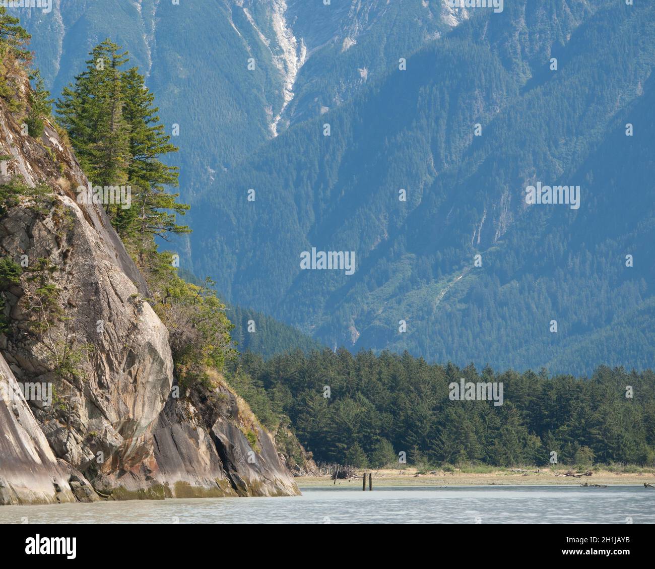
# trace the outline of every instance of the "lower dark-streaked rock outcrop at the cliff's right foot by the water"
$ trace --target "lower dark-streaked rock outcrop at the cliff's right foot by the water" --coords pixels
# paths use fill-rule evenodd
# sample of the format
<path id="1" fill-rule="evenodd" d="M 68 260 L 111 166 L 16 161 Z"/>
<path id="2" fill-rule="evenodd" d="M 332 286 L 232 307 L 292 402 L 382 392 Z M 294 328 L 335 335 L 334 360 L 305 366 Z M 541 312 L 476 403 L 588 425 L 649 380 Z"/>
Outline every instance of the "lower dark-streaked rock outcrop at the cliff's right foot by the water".
<path id="1" fill-rule="evenodd" d="M 271 435 L 225 385 L 169 399 L 155 428 L 155 460 L 156 478 L 177 498 L 299 494 Z"/>

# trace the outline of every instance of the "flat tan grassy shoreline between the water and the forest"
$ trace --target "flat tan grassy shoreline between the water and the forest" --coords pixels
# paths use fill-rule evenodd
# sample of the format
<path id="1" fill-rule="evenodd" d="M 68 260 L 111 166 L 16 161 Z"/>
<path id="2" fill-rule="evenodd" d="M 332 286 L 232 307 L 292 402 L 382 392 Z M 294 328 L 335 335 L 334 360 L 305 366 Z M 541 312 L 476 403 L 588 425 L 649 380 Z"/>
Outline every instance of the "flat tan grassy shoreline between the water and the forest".
<path id="1" fill-rule="evenodd" d="M 460 469 L 432 470 L 429 472 L 419 471 L 415 467 L 404 469 L 358 469 L 357 474 L 351 479 L 340 479 L 335 481 L 329 476 L 304 476 L 297 477 L 295 482 L 298 486 L 311 488 L 323 486 L 362 486 L 362 475 L 373 474 L 373 488 L 376 486 L 579 486 L 581 484 L 599 484 L 602 486 L 618 484 L 644 483 L 655 486 L 655 472 L 652 469 L 634 469 L 621 471 L 620 469 L 563 469 L 548 467 L 533 467 L 525 469 L 505 469 L 484 467 L 483 471 L 462 471 Z M 591 475 L 586 473 L 591 472 Z M 566 474 L 571 475 L 567 476 Z M 582 476 L 574 476 L 582 475 Z M 645 488 L 655 492 L 655 488 Z"/>

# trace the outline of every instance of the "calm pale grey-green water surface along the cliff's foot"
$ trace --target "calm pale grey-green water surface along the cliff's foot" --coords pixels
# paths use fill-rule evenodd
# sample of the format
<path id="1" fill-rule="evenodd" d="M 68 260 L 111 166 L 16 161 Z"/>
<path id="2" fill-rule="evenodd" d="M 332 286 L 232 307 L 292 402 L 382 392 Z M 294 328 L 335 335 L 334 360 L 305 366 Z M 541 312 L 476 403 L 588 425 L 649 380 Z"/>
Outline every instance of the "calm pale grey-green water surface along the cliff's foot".
<path id="1" fill-rule="evenodd" d="M 212 498 L 2 506 L 0 523 L 655 523 L 655 490 L 643 486 L 303 488 L 296 498 Z"/>

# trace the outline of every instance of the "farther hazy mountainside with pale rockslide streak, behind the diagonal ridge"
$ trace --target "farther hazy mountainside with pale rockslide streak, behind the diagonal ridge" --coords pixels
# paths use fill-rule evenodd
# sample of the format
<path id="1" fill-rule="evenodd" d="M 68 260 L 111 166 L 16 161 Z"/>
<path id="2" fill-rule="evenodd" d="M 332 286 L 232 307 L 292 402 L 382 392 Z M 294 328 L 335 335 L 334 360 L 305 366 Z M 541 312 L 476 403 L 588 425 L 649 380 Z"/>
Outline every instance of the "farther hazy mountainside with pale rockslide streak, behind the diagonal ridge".
<path id="1" fill-rule="evenodd" d="M 421 0 L 53 0 L 48 14 L 14 12 L 56 95 L 105 37 L 129 50 L 164 123 L 179 125 L 176 163 L 192 203 L 278 130 L 348 100 L 468 16 Z"/>

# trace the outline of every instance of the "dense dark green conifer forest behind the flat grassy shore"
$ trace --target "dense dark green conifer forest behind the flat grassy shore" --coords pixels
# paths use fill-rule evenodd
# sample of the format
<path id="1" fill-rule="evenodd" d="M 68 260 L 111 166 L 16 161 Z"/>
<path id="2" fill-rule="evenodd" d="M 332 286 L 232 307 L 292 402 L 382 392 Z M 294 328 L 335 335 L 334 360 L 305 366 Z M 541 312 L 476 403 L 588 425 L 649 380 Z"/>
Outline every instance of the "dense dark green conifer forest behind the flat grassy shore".
<path id="1" fill-rule="evenodd" d="M 553 452 L 567 465 L 655 461 L 651 370 L 601 366 L 576 378 L 326 349 L 266 362 L 246 353 L 236 374 L 253 410 L 263 420 L 288 416 L 319 461 L 381 467 L 398 464 L 400 452 L 432 465 L 548 465 Z M 462 378 L 502 383 L 503 404 L 452 401 L 450 385 Z"/>

